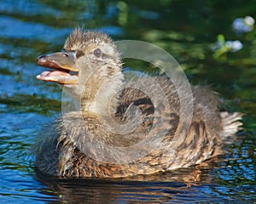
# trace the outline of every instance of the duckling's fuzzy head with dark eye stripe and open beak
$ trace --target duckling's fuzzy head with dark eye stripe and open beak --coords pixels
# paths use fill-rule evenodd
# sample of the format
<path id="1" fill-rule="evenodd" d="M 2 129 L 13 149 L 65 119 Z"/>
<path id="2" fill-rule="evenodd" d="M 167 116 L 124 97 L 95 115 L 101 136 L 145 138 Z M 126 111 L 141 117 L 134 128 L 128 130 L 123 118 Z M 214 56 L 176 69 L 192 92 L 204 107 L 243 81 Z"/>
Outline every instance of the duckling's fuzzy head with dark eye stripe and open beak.
<path id="1" fill-rule="evenodd" d="M 101 32 L 77 28 L 67 37 L 61 52 L 41 55 L 37 63 L 51 69 L 38 75 L 38 80 L 65 86 L 75 99 L 93 101 L 100 89 L 102 97 L 108 97 L 123 83 L 119 51 Z"/>

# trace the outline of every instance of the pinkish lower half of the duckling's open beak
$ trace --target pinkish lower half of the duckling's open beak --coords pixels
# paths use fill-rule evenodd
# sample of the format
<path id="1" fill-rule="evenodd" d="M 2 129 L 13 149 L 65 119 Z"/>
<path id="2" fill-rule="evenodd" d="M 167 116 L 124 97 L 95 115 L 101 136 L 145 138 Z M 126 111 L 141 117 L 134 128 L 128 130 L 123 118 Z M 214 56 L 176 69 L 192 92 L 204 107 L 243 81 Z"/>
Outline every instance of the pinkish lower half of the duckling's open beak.
<path id="1" fill-rule="evenodd" d="M 70 75 L 65 71 L 44 71 L 40 75 L 37 76 L 38 80 L 46 81 L 46 82 L 58 82 L 61 84 L 73 84 L 78 81 L 78 76 Z"/>

